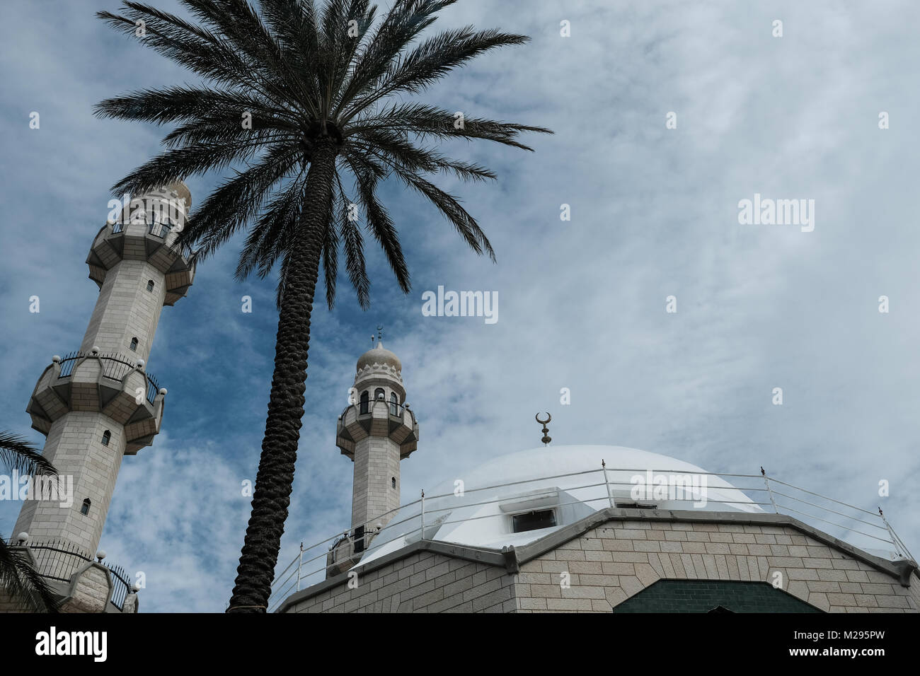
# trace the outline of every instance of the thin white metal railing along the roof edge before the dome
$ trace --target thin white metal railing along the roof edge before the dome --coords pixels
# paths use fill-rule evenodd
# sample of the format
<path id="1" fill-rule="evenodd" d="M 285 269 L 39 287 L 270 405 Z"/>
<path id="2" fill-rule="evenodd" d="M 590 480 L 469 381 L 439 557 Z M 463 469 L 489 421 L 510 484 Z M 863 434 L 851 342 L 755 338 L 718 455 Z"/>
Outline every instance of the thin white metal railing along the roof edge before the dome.
<path id="1" fill-rule="evenodd" d="M 388 404 L 389 402 L 387 402 Z M 367 550 L 374 548 L 378 550 L 385 544 L 396 541 L 403 541 L 405 544 L 421 539 L 434 539 L 435 534 L 443 526 L 465 523 L 468 521 L 478 521 L 484 519 L 502 519 L 508 518 L 505 513 L 490 513 L 479 516 L 464 516 L 462 518 L 451 519 L 451 514 L 455 510 L 462 510 L 469 507 L 479 507 L 489 504 L 500 504 L 512 502 L 515 499 L 521 499 L 518 495 L 505 494 L 500 498 L 477 497 L 472 501 L 466 500 L 470 494 L 482 493 L 484 491 L 494 491 L 503 487 L 521 487 L 526 490 L 528 484 L 541 484 L 539 487 L 544 491 L 551 490 L 547 487 L 547 482 L 556 482 L 559 479 L 566 479 L 569 483 L 573 477 L 578 477 L 577 485 L 559 486 L 559 491 L 565 493 L 578 493 L 585 489 L 605 487 L 601 491 L 600 497 L 596 498 L 576 498 L 568 502 L 552 504 L 547 509 L 556 509 L 559 507 L 568 507 L 573 505 L 589 504 L 593 510 L 603 510 L 604 508 L 614 507 L 639 507 L 639 508 L 656 508 L 662 502 L 674 502 L 675 498 L 639 498 L 629 497 L 631 489 L 635 486 L 633 481 L 619 481 L 614 477 L 619 473 L 634 473 L 634 475 L 647 475 L 648 468 L 615 468 L 602 466 L 598 469 L 584 470 L 581 472 L 571 472 L 569 474 L 544 476 L 535 479 L 524 479 L 521 481 L 512 481 L 508 483 L 498 483 L 485 487 L 465 488 L 462 502 L 457 502 L 449 506 L 441 506 L 437 502 L 440 498 L 456 497 L 455 493 L 444 493 L 443 495 L 428 495 L 421 491 L 421 497 L 400 505 L 394 510 L 385 511 L 382 514 L 369 519 L 362 526 L 347 531 L 339 531 L 330 535 L 323 540 L 304 546 L 300 544 L 300 549 L 296 556 L 291 559 L 287 567 L 284 567 L 280 573 L 275 576 L 271 583 L 271 594 L 268 604 L 268 612 L 278 610 L 282 603 L 293 593 L 306 589 L 323 579 L 328 574 L 341 572 L 344 566 L 349 563 L 355 565 L 360 556 Z M 689 497 L 677 498 L 681 502 L 694 502 L 697 498 L 704 497 L 707 504 L 715 504 L 715 508 L 708 508 L 700 511 L 719 511 L 719 505 L 730 506 L 731 510 L 750 508 L 749 513 L 776 513 L 791 516 L 798 521 L 802 521 L 813 528 L 827 533 L 847 544 L 856 546 L 868 554 L 880 556 L 882 558 L 898 559 L 910 558 L 914 556 L 908 551 L 901 538 L 891 528 L 891 524 L 885 518 L 882 510 L 878 512 L 865 510 L 855 505 L 849 505 L 845 502 L 834 498 L 828 498 L 820 493 L 814 493 L 804 488 L 793 486 L 784 481 L 765 473 L 763 468 L 759 475 L 741 475 L 714 472 L 692 472 L 687 469 L 678 470 L 651 470 L 652 475 L 694 475 L 718 477 L 719 479 L 730 480 L 731 485 L 726 486 L 707 486 L 706 492 L 714 492 L 721 499 L 709 498 L 707 495 L 696 495 Z M 708 480 L 707 480 L 708 481 Z M 737 486 L 742 484 L 742 486 Z M 732 499 L 730 496 L 723 495 L 730 491 L 737 491 L 738 497 Z M 756 498 L 751 498 L 748 494 L 754 494 Z M 418 506 L 418 510 L 414 509 Z M 760 508 L 759 510 L 757 508 Z M 540 508 L 535 508 L 539 510 Z M 665 509 L 675 509 L 668 507 Z M 683 508 L 681 508 L 683 509 Z M 386 521 L 385 531 L 377 528 L 375 524 L 378 521 Z M 416 521 L 416 523 L 412 523 Z M 386 533 L 386 535 L 384 535 Z M 511 533 L 510 533 L 511 534 Z M 380 538 L 388 536 L 388 539 L 382 541 Z M 915 560 L 915 559 L 914 559 Z M 348 566 L 351 567 L 351 566 Z"/>

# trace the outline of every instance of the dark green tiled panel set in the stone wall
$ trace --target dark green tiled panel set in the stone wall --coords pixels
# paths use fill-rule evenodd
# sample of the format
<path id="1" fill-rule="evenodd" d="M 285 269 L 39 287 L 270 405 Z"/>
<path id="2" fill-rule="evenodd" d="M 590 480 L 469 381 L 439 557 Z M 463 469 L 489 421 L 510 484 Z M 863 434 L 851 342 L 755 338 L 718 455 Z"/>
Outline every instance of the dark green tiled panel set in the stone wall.
<path id="1" fill-rule="evenodd" d="M 766 582 L 660 579 L 614 607 L 614 613 L 822 613 Z"/>

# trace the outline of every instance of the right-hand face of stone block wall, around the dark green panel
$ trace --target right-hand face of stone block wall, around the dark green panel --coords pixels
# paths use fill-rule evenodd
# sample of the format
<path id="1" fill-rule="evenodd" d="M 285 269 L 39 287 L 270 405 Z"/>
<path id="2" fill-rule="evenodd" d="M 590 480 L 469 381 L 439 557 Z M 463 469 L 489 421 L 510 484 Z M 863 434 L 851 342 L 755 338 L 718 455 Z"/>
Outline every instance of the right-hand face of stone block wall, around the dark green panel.
<path id="1" fill-rule="evenodd" d="M 564 573 L 568 589 L 561 585 Z M 608 613 L 659 579 L 776 579 L 783 590 L 831 613 L 915 613 L 920 607 L 915 577 L 905 588 L 790 526 L 686 521 L 607 521 L 524 563 L 515 591 L 525 613 Z"/>

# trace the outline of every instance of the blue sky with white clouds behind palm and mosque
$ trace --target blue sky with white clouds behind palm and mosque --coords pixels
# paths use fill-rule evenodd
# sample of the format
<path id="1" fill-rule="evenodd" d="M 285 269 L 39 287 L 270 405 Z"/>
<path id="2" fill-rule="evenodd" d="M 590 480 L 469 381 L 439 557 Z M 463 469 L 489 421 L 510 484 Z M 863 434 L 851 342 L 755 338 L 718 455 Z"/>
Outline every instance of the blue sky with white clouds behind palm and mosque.
<path id="1" fill-rule="evenodd" d="M 0 24 L 0 429 L 38 445 L 25 407 L 52 355 L 77 349 L 86 330 L 98 296 L 86 254 L 109 188 L 169 131 L 98 120 L 93 106 L 197 82 L 94 17 L 117 6 L 15 3 Z M 918 15 L 912 0 L 460 0 L 444 10 L 430 31 L 473 24 L 533 40 L 478 58 L 423 100 L 555 134 L 526 139 L 535 153 L 448 148 L 499 175 L 436 179 L 477 217 L 494 264 L 433 207 L 386 184 L 412 290 L 400 292 L 368 246 L 371 308 L 344 278 L 331 312 L 315 306 L 280 564 L 349 525 L 352 465 L 336 448 L 336 418 L 377 325 L 420 420 L 403 501 L 537 446 L 535 413 L 549 411 L 554 445 L 627 446 L 712 472 L 763 465 L 881 506 L 920 551 Z M 192 207 L 225 176 L 188 178 Z M 813 222 L 740 223 L 739 202 L 755 194 L 813 200 Z M 276 276 L 234 279 L 240 246 L 236 237 L 202 263 L 188 297 L 164 309 L 147 363 L 168 389 L 163 428 L 121 464 L 100 543 L 109 561 L 144 572 L 142 612 L 223 612 L 236 577 L 241 486 L 255 479 L 277 322 Z M 439 285 L 497 292 L 498 321 L 423 315 L 422 294 Z M 20 507 L 0 501 L 0 533 Z"/>

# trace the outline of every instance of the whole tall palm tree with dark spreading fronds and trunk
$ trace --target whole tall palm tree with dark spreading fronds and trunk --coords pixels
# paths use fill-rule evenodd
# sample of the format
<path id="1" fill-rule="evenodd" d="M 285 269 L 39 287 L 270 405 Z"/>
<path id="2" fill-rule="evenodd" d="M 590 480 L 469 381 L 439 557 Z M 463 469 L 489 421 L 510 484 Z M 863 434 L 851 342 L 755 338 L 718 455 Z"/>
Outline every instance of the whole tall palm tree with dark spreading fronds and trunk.
<path id="1" fill-rule="evenodd" d="M 228 612 L 265 612 L 281 545 L 304 415 L 310 315 L 320 263 L 326 302 L 335 299 L 339 248 L 362 308 L 369 305 L 364 227 L 383 248 L 403 292 L 409 272 L 393 219 L 377 197 L 386 179 L 430 200 L 477 254 L 495 252 L 476 220 L 428 175 L 496 178 L 431 143 L 485 139 L 524 150 L 521 132 L 539 127 L 461 119 L 448 109 L 409 102 L 479 54 L 529 40 L 471 27 L 420 40 L 455 0 L 395 0 L 384 16 L 369 0 L 181 0 L 192 24 L 154 7 L 124 2 L 98 16 L 203 76 L 203 86 L 173 86 L 109 98 L 101 117 L 178 123 L 169 148 L 113 188 L 139 194 L 172 180 L 236 163 L 201 203 L 179 237 L 206 258 L 248 226 L 236 275 L 267 276 L 280 265 L 278 333 L 268 418 L 252 514 Z M 417 41 L 417 39 L 419 39 Z M 353 190 L 353 195 L 351 194 Z M 351 198 L 354 198 L 352 201 Z"/>

